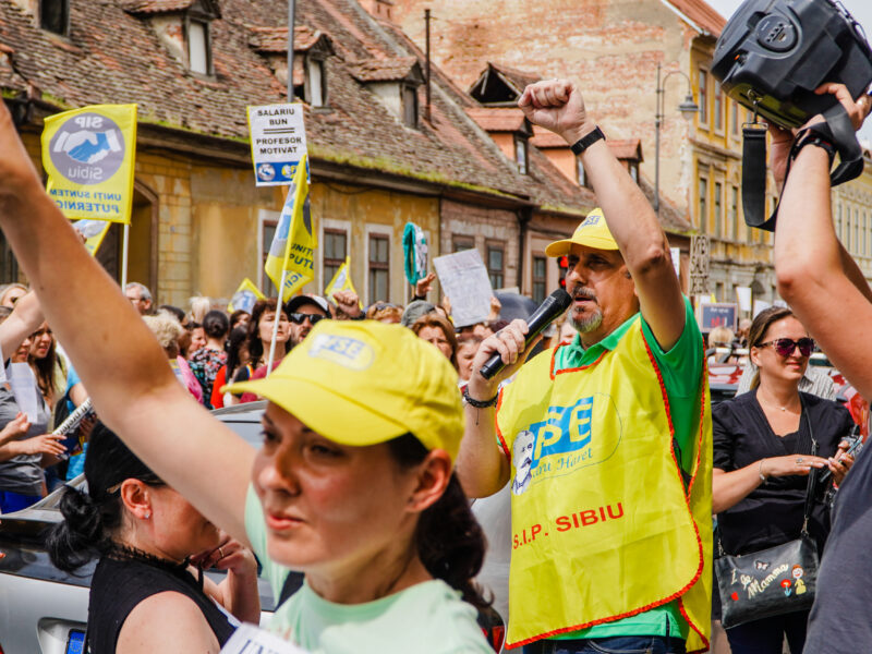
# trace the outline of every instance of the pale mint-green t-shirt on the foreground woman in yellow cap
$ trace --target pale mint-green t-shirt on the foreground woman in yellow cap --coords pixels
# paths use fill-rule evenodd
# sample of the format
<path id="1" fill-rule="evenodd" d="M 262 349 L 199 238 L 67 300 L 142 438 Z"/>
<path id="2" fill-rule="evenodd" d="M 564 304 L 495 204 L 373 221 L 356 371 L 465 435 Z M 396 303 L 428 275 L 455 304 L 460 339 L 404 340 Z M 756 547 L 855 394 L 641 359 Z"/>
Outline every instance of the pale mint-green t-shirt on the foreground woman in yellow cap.
<path id="1" fill-rule="evenodd" d="M 252 486 L 245 532 L 278 597 L 288 569 L 267 555 L 264 511 Z M 317 654 L 493 654 L 475 618 L 475 609 L 440 580 L 363 604 L 327 602 L 304 583 L 276 608 L 267 628 Z"/>

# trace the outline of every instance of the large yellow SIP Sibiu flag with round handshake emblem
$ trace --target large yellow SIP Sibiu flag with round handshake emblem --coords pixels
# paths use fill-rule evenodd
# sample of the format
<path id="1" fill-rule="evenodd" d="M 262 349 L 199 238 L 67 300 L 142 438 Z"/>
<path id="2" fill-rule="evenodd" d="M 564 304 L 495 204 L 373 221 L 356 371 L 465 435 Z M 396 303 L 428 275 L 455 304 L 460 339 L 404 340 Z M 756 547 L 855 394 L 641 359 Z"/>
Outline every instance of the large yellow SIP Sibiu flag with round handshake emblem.
<path id="1" fill-rule="evenodd" d="M 46 119 L 46 191 L 68 218 L 130 222 L 136 105 L 92 105 Z"/>

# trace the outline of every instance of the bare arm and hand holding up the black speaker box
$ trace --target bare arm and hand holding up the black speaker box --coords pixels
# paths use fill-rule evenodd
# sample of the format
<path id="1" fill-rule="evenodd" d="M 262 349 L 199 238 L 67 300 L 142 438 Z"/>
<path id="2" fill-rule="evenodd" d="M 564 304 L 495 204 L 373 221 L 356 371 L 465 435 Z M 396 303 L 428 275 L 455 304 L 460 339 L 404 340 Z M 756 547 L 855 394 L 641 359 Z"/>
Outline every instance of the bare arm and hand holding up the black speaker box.
<path id="1" fill-rule="evenodd" d="M 855 128 L 860 128 L 869 113 L 868 98 L 855 102 L 841 85 L 826 85 L 819 92 L 835 94 Z M 783 166 L 775 161 L 773 169 Z M 808 145 L 792 164 L 778 210 L 778 292 L 835 366 L 868 398 L 872 397 L 872 348 L 865 343 L 872 303 L 869 284 L 856 264 L 846 259 L 850 257 L 833 227 L 827 153 Z"/>

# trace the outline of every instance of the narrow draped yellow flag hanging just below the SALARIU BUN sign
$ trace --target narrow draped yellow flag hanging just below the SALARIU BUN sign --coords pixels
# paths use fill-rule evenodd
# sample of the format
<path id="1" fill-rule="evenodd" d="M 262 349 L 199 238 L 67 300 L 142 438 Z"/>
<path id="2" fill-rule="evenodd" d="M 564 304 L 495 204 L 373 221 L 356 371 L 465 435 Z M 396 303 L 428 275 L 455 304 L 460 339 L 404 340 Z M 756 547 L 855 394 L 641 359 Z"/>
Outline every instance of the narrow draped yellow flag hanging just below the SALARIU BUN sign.
<path id="1" fill-rule="evenodd" d="M 276 235 L 272 238 L 264 265 L 264 270 L 276 288 L 281 286 L 282 272 L 287 270 L 284 288 L 280 293 L 282 302 L 287 302 L 315 277 L 315 247 L 318 242 L 312 229 L 312 216 L 308 210 L 307 168 L 307 157 L 303 155 L 288 191 L 288 198 L 284 201 L 276 227 Z"/>

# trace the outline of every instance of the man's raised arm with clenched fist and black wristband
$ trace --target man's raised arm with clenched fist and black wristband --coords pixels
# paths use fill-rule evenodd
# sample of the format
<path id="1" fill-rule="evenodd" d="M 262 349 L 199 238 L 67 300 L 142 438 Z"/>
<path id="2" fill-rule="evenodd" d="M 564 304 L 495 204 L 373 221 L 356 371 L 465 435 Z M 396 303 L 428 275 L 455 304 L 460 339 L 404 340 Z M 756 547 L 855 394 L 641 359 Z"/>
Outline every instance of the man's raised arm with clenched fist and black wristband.
<path id="1" fill-rule="evenodd" d="M 518 105 L 531 122 L 552 130 L 569 145 L 596 129 L 581 90 L 565 80 L 528 86 Z M 588 147 L 581 161 L 632 275 L 642 316 L 661 348 L 670 350 L 685 329 L 685 304 L 657 216 L 605 141 Z"/>

